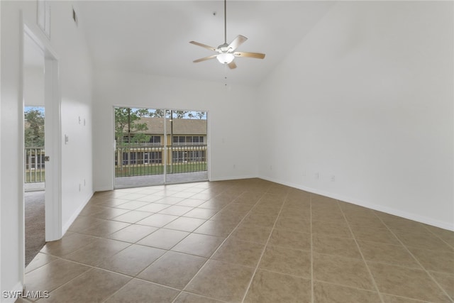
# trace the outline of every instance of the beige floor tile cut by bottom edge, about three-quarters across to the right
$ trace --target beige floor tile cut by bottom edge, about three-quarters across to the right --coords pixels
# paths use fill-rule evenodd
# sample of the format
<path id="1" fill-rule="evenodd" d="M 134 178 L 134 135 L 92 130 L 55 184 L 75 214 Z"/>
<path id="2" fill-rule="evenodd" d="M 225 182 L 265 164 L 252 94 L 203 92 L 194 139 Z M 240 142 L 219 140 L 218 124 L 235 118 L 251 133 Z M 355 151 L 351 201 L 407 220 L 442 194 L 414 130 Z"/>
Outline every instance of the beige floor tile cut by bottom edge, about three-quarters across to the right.
<path id="1" fill-rule="evenodd" d="M 380 303 L 377 292 L 358 288 L 314 282 L 314 303 Z"/>

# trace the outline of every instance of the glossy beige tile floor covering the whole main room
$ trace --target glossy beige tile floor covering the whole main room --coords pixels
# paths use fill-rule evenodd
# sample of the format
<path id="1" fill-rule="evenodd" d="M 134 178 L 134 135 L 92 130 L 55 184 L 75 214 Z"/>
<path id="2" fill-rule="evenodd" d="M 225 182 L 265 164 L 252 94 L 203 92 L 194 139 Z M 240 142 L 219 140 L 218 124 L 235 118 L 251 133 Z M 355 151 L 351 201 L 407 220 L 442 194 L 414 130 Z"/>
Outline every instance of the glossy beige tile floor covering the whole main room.
<path id="1" fill-rule="evenodd" d="M 117 189 L 26 286 L 50 292 L 38 302 L 454 302 L 454 232 L 259 179 Z"/>

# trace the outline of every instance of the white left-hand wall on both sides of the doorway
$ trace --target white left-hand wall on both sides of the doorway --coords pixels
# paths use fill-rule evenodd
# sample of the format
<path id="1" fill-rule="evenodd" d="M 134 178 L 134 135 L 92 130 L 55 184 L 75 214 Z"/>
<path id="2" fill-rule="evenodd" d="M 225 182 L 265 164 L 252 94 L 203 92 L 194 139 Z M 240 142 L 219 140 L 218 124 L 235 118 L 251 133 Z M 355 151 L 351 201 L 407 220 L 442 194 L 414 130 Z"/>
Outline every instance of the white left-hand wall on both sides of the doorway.
<path id="1" fill-rule="evenodd" d="M 1 5 L 1 290 L 22 290 L 23 103 L 21 98 L 21 10 L 35 23 L 36 1 Z M 62 131 L 62 220 L 64 227 L 92 195 L 92 67 L 82 32 L 72 22 L 72 2 L 51 1 L 50 45 L 60 62 Z M 86 119 L 86 126 L 77 117 Z M 76 156 L 77 155 L 77 156 Z M 78 183 L 86 177 L 86 187 Z M 1 298 L 1 302 L 10 302 Z"/>

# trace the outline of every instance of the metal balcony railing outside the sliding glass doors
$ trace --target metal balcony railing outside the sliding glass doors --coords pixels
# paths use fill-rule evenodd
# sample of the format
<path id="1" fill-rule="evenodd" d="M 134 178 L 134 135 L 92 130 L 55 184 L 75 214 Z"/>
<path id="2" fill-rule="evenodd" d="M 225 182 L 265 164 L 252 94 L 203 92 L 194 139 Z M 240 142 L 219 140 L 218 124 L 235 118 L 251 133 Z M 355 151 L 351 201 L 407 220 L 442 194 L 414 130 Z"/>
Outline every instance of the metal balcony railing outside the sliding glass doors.
<path id="1" fill-rule="evenodd" d="M 118 147 L 115 151 L 115 177 L 133 177 L 207 170 L 206 145 Z"/>

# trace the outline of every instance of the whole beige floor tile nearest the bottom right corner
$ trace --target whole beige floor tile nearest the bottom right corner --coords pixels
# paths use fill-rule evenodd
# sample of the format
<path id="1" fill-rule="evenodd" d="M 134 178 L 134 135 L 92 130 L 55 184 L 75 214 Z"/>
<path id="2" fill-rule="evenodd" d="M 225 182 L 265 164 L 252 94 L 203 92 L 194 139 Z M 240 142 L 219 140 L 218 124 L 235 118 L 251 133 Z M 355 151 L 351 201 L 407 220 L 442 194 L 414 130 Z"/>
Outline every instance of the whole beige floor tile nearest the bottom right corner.
<path id="1" fill-rule="evenodd" d="M 367 263 L 380 292 L 429 302 L 449 302 L 426 271 L 381 263 Z"/>

